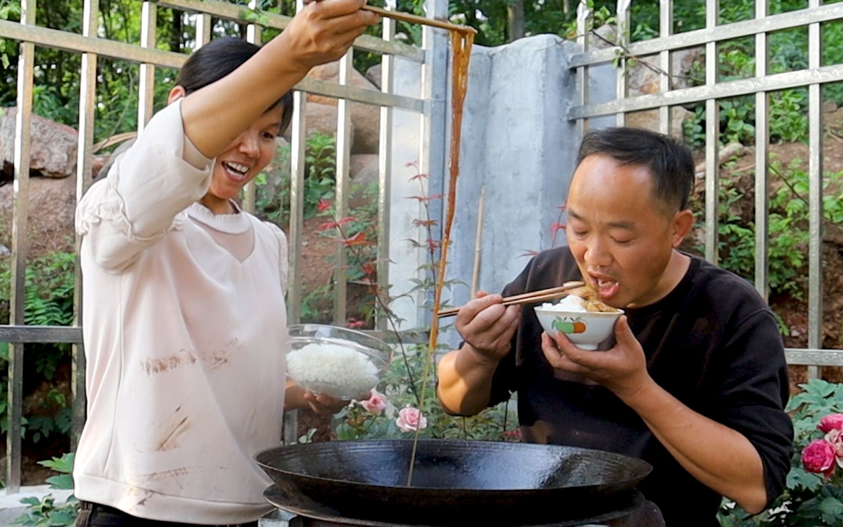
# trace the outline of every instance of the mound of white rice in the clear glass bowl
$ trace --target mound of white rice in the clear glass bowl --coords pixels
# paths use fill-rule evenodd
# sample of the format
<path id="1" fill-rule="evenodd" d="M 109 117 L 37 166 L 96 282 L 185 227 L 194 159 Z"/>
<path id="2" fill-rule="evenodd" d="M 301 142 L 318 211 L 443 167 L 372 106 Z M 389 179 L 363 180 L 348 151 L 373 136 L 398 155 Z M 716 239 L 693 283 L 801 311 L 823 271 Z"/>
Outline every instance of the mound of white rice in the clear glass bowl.
<path id="1" fill-rule="evenodd" d="M 378 367 L 365 353 L 337 344 L 306 344 L 287 353 L 287 374 L 298 386 L 340 399 L 366 399 Z"/>

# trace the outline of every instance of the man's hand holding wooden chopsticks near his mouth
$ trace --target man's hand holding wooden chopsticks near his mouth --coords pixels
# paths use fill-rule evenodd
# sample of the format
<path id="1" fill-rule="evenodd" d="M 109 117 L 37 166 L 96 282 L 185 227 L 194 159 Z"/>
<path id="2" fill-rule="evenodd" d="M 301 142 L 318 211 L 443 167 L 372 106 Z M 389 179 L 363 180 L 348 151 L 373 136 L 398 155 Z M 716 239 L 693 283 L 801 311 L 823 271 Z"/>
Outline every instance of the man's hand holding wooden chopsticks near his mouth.
<path id="1" fill-rule="evenodd" d="M 479 358 L 495 363 L 507 356 L 521 313 L 520 306 L 504 307 L 501 300 L 499 294 L 479 291 L 473 300 L 459 309 L 455 323 L 459 335 Z"/>

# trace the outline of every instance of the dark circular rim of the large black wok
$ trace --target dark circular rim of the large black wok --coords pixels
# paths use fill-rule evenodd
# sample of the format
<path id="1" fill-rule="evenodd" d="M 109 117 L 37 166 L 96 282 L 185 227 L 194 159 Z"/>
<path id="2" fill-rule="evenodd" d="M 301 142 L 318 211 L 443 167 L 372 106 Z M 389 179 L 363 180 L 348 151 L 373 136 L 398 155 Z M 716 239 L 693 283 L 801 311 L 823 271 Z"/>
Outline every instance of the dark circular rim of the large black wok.
<path id="1" fill-rule="evenodd" d="M 634 477 L 627 478 L 621 481 L 609 481 L 604 483 L 587 483 L 581 485 L 566 485 L 564 487 L 545 487 L 545 488 L 515 488 L 515 489 L 478 489 L 478 488 L 466 488 L 466 487 L 406 487 L 405 485 L 396 486 L 396 485 L 384 485 L 381 483 L 365 483 L 361 481 L 347 481 L 347 480 L 339 480 L 332 477 L 322 477 L 322 476 L 313 476 L 309 474 L 301 474 L 298 472 L 282 470 L 277 467 L 273 467 L 270 465 L 266 465 L 265 462 L 260 460 L 261 456 L 266 456 L 266 454 L 270 452 L 276 452 L 279 449 L 300 449 L 300 450 L 307 450 L 307 449 L 325 449 L 326 444 L 351 444 L 353 445 L 361 445 L 361 444 L 412 444 L 412 439 L 353 439 L 353 440 L 346 440 L 346 441 L 325 441 L 319 443 L 306 443 L 306 444 L 291 444 L 291 445 L 280 445 L 276 447 L 271 447 L 269 449 L 260 450 L 257 454 L 255 454 L 255 462 L 260 466 L 262 470 L 272 471 L 276 473 L 282 473 L 287 476 L 293 476 L 296 478 L 302 478 L 311 481 L 330 481 L 332 483 L 341 483 L 343 485 L 354 485 L 357 487 L 377 487 L 377 488 L 389 488 L 389 489 L 397 489 L 400 492 L 405 490 L 412 489 L 413 491 L 423 490 L 427 492 L 464 492 L 467 494 L 485 494 L 488 495 L 489 493 L 520 493 L 520 492 L 556 492 L 561 489 L 594 489 L 599 487 L 610 487 L 610 486 L 623 486 L 623 487 L 636 487 L 638 483 L 640 483 L 645 477 L 649 476 L 652 472 L 652 465 L 647 463 L 645 460 L 641 460 L 639 458 L 634 458 L 624 454 L 617 454 L 615 452 L 609 452 L 607 450 L 598 450 L 598 449 L 583 449 L 581 447 L 572 447 L 566 446 L 561 444 L 535 444 L 535 443 L 506 443 L 502 441 L 480 441 L 480 440 L 464 440 L 464 439 L 419 439 L 419 444 L 432 444 L 432 443 L 447 443 L 447 444 L 459 444 L 459 445 L 468 445 L 468 444 L 485 444 L 485 445 L 496 445 L 491 448 L 518 448 L 518 449 L 566 449 L 566 450 L 574 450 L 576 452 L 597 452 L 601 455 L 608 455 L 609 457 L 613 457 L 615 459 L 629 461 L 634 464 L 633 470 L 638 471 L 640 470 L 640 474 L 636 474 Z M 316 445 L 316 446 L 309 446 L 309 445 Z M 518 445 L 514 447 L 504 447 L 504 446 L 497 446 L 497 445 Z M 269 474 L 267 474 L 268 476 Z M 277 482 L 274 481 L 273 484 Z"/>

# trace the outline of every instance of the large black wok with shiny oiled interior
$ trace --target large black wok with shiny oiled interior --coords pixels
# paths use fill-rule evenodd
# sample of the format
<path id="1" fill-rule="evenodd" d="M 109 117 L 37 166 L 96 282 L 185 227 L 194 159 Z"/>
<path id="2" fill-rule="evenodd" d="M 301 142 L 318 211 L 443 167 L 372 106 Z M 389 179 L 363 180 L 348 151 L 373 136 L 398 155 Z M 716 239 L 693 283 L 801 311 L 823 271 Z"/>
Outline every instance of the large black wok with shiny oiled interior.
<path id="1" fill-rule="evenodd" d="M 629 508 L 645 461 L 572 447 L 421 440 L 332 441 L 255 456 L 290 503 L 398 524 L 560 523 Z"/>

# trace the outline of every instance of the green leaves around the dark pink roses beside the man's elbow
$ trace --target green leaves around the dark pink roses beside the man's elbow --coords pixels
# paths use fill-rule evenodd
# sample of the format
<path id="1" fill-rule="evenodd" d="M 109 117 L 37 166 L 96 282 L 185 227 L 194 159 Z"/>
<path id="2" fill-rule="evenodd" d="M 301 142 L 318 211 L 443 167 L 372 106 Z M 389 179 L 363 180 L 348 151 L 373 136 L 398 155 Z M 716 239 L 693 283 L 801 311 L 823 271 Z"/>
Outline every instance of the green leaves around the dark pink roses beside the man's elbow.
<path id="1" fill-rule="evenodd" d="M 803 391 L 792 397 L 786 409 L 793 412 L 795 452 L 784 494 L 757 516 L 724 500 L 719 515 L 722 527 L 843 527 L 843 484 L 805 471 L 801 459 L 808 443 L 823 437 L 817 429 L 819 420 L 843 412 L 843 384 L 812 379 L 799 386 Z"/>

